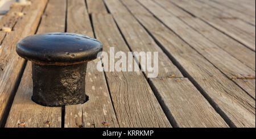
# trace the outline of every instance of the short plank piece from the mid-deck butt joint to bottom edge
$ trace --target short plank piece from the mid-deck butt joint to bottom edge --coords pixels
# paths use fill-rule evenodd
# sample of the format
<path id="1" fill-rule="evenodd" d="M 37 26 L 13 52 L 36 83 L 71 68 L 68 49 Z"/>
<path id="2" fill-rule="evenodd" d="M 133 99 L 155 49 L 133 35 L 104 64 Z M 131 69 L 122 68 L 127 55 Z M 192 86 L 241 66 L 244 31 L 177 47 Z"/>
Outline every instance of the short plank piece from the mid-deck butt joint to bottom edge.
<path id="1" fill-rule="evenodd" d="M 228 127 L 187 78 L 151 78 L 150 83 L 177 127 Z"/>

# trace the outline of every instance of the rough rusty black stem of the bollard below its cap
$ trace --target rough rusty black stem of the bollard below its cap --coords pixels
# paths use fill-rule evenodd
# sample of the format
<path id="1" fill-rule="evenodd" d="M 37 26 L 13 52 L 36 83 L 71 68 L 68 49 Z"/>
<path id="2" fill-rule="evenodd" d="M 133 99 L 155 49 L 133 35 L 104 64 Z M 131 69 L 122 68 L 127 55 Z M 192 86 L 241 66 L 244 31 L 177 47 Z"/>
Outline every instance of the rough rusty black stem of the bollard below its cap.
<path id="1" fill-rule="evenodd" d="M 32 64 L 32 100 L 42 106 L 62 107 L 82 104 L 85 94 L 86 63 L 53 66 Z"/>

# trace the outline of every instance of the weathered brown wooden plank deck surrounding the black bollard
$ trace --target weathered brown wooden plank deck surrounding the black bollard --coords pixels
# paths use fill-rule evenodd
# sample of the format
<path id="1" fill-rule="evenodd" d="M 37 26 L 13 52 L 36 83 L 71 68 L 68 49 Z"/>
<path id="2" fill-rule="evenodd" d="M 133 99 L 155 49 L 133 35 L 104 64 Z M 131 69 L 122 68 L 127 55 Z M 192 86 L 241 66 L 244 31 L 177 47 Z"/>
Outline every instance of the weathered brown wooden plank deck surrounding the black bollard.
<path id="1" fill-rule="evenodd" d="M 254 127 L 254 0 L 31 0 L 0 20 L 1 127 Z M 31 62 L 16 43 L 44 32 L 96 37 L 104 51 L 159 52 L 159 74 L 89 62 L 76 106 L 31 100 Z M 109 125 L 102 122 L 107 121 Z"/>

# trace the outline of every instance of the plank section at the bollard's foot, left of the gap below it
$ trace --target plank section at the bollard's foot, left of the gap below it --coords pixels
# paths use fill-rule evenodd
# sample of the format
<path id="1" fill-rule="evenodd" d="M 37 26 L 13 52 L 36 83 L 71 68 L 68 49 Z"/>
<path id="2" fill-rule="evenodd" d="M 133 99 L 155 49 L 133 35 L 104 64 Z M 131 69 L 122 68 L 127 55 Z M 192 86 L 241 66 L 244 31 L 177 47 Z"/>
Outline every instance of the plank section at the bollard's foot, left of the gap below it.
<path id="1" fill-rule="evenodd" d="M 27 63 L 6 122 L 7 128 L 56 128 L 61 126 L 61 108 L 44 107 L 31 100 L 32 64 Z"/>

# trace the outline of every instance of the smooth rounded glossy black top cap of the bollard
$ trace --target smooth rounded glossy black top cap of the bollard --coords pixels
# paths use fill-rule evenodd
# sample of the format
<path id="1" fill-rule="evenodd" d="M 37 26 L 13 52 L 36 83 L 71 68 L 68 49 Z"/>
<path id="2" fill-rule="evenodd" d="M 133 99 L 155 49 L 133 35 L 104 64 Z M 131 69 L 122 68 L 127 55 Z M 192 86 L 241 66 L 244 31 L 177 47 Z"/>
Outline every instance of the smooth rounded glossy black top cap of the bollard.
<path id="1" fill-rule="evenodd" d="M 27 36 L 16 45 L 20 57 L 40 65 L 73 65 L 97 58 L 100 41 L 76 33 L 42 33 Z"/>

